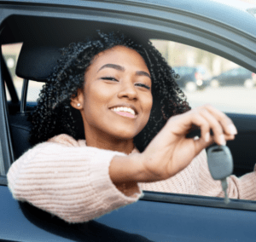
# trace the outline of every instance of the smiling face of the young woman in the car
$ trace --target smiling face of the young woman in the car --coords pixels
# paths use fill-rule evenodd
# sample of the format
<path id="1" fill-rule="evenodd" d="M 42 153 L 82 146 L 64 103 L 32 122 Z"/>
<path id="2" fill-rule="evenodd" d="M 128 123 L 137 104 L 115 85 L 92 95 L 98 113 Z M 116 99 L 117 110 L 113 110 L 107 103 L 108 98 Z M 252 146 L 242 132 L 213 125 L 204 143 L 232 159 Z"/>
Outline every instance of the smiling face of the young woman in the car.
<path id="1" fill-rule="evenodd" d="M 96 55 L 84 74 L 85 134 L 131 139 L 148 123 L 151 78 L 143 57 L 115 46 Z"/>

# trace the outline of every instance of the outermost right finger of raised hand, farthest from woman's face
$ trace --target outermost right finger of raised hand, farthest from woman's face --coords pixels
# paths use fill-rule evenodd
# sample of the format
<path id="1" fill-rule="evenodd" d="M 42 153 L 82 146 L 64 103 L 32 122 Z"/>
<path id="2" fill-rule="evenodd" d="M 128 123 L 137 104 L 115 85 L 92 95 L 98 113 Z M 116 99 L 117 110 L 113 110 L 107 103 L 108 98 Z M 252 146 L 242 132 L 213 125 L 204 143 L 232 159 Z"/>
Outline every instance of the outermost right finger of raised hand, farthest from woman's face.
<path id="1" fill-rule="evenodd" d="M 224 133 L 227 135 L 236 135 L 236 126 L 233 124 L 232 120 L 224 114 L 224 112 L 219 111 L 211 105 L 204 106 L 212 115 L 218 119 L 218 122 L 222 125 Z"/>

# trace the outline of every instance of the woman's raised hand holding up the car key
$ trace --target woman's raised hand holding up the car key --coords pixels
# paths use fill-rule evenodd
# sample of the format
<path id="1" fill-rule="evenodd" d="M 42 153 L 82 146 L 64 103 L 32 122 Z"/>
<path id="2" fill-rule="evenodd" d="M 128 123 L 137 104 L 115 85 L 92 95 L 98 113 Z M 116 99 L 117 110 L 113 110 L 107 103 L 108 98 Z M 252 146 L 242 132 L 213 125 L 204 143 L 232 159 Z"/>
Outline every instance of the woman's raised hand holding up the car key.
<path id="1" fill-rule="evenodd" d="M 193 125 L 201 129 L 201 138 L 186 138 Z M 141 154 L 143 176 L 139 180 L 154 182 L 174 176 L 212 142 L 225 145 L 236 134 L 231 119 L 210 105 L 174 116 Z"/>

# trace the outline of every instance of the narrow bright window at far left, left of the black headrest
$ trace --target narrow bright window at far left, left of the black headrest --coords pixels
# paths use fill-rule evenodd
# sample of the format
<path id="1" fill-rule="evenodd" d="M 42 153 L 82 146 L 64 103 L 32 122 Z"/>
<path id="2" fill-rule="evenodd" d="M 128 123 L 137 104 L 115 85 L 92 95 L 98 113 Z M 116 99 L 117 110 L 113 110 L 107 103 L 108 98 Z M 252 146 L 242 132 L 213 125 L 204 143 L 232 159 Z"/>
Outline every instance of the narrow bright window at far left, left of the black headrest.
<path id="1" fill-rule="evenodd" d="M 16 76 L 15 69 L 16 69 L 17 60 L 20 54 L 21 46 L 22 46 L 22 43 L 11 43 L 11 44 L 2 45 L 3 58 L 6 62 L 7 67 L 9 68 L 9 72 L 11 74 L 11 77 L 13 78 L 15 89 L 17 91 L 19 98 L 21 96 L 23 79 Z M 7 94 L 7 100 L 10 101 L 9 91 L 7 91 L 6 94 Z"/>

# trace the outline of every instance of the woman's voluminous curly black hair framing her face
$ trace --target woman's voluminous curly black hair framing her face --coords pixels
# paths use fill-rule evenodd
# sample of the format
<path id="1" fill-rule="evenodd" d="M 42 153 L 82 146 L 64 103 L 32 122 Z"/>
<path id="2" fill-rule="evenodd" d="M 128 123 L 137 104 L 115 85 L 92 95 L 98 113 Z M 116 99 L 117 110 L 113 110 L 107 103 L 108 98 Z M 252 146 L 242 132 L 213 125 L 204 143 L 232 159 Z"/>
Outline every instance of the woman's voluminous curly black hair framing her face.
<path id="1" fill-rule="evenodd" d="M 32 112 L 32 144 L 47 141 L 59 134 L 71 135 L 75 139 L 84 138 L 82 118 L 71 107 L 71 97 L 78 95 L 78 89 L 83 89 L 84 72 L 91 60 L 100 52 L 117 45 L 134 49 L 142 55 L 152 78 L 152 111 L 148 124 L 134 138 L 134 143 L 141 152 L 168 118 L 190 109 L 183 91 L 175 82 L 175 72 L 150 41 L 138 40 L 137 37 L 126 36 L 121 32 L 98 31 L 84 42 L 71 43 L 67 48 L 61 49 L 58 65 L 41 90 L 38 106 Z"/>

